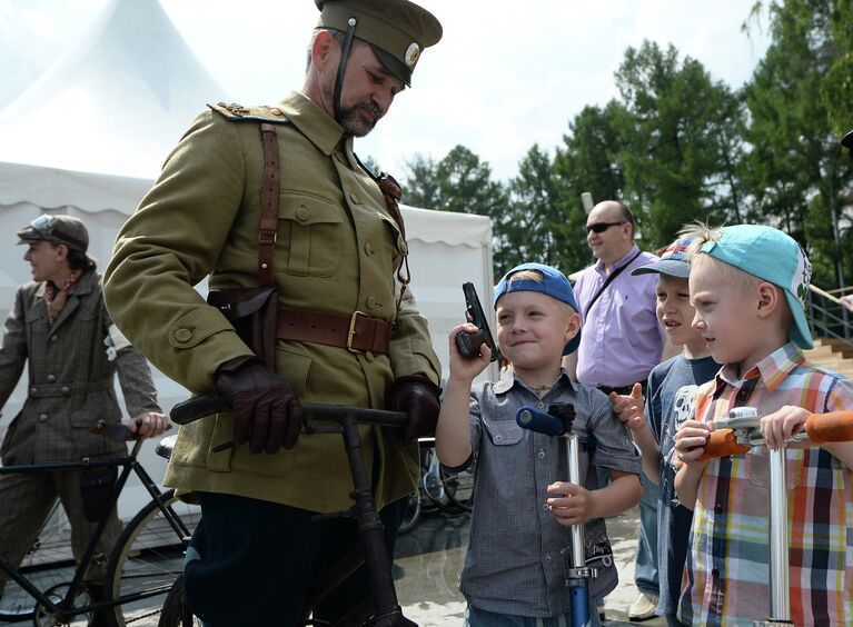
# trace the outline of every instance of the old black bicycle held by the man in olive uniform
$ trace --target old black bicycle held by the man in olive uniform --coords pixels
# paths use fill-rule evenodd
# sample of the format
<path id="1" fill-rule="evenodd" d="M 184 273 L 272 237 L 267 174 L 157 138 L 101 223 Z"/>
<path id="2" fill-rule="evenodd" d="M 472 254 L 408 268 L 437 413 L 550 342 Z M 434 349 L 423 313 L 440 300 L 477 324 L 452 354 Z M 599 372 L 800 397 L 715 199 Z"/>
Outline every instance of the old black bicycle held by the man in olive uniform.
<path id="1" fill-rule="evenodd" d="M 186 425 L 205 416 L 230 411 L 228 402 L 212 394 L 197 396 L 176 405 L 170 414 L 171 420 Z M 358 519 L 359 546 L 344 556 L 335 566 L 321 574 L 317 585 L 309 593 L 304 609 L 304 625 L 316 625 L 311 619 L 311 609 L 329 593 L 335 590 L 361 565 L 367 566 L 367 574 L 373 590 L 373 608 L 358 607 L 336 625 L 369 625 L 371 627 L 417 627 L 403 615 L 397 601 L 397 593 L 391 578 L 391 561 L 385 547 L 384 529 L 374 506 L 367 470 L 361 458 L 361 441 L 357 424 L 403 428 L 408 417 L 401 411 L 385 411 L 340 405 L 302 404 L 302 432 L 340 434 L 349 459 L 353 477 L 354 506 L 348 512 L 329 516 L 354 516 Z M 321 424 L 317 424 L 321 422 Z M 325 425 L 324 425 L 325 424 Z M 235 446 L 234 442 L 219 448 Z M 178 578 L 167 596 L 160 614 L 159 627 L 189 627 L 200 625 L 184 599 L 184 580 Z M 327 623 L 323 623 L 327 625 Z"/>

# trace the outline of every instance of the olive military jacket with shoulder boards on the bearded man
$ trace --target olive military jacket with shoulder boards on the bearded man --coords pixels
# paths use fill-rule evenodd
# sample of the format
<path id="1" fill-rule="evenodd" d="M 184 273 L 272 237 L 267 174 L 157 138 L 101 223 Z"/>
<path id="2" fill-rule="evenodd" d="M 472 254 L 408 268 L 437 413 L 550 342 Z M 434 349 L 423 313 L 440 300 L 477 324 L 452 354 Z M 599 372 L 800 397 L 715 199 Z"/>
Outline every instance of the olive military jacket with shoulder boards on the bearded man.
<path id="1" fill-rule="evenodd" d="M 397 315 L 399 229 L 351 138 L 315 102 L 291 93 L 277 108 L 211 107 L 169 156 L 119 233 L 107 270 L 117 325 L 163 372 L 195 392 L 212 389 L 222 362 L 251 355 L 231 325 L 192 289 L 258 286 L 264 152 L 259 122 L 276 123 L 280 155 L 274 258 L 279 302 L 395 321 L 389 355 L 277 340 L 276 368 L 305 402 L 383 408 L 390 382 L 423 372 L 439 380 L 426 320 L 414 302 Z M 417 445 L 361 427 L 377 506 L 414 490 Z M 347 509 L 353 484 L 338 435 L 299 438 L 291 450 L 252 455 L 232 438 L 230 414 L 181 427 L 166 475 L 179 494 L 236 494 L 314 511 Z"/>

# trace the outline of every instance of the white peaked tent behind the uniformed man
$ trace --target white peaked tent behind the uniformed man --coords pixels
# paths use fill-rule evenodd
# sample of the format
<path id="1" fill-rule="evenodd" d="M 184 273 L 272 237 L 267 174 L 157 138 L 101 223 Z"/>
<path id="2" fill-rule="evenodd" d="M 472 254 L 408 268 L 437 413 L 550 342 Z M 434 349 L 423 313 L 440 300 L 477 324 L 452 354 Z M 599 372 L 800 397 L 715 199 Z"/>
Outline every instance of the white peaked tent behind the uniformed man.
<path id="1" fill-rule="evenodd" d="M 14 289 L 30 279 L 16 230 L 43 212 L 77 216 L 102 269 L 168 151 L 204 103 L 221 93 L 156 0 L 113 0 L 78 48 L 0 112 L 3 319 Z M 51 111 L 62 111 L 61 120 Z M 413 208 L 404 208 L 404 217 L 413 291 L 446 376 L 447 332 L 464 319 L 462 283 L 473 281 L 488 308 L 490 221 Z M 496 376 L 494 365 L 487 375 Z M 2 408 L 0 431 L 23 401 L 26 382 L 24 376 Z M 165 410 L 187 397 L 159 372 L 156 384 Z M 159 480 L 165 466 L 150 449 L 145 465 Z M 141 487 L 131 495 L 122 514 L 141 505 Z"/>

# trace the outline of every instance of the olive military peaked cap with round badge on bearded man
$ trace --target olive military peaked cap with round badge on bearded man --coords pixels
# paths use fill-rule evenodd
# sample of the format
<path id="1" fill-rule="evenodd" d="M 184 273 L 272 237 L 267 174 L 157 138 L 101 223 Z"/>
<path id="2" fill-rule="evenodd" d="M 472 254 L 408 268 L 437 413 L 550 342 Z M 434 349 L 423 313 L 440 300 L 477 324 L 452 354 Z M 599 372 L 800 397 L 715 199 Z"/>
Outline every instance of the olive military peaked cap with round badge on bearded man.
<path id="1" fill-rule="evenodd" d="M 355 37 L 370 44 L 377 59 L 407 86 L 424 48 L 442 39 L 433 13 L 408 0 L 314 0 L 318 28 L 346 32 L 355 19 Z"/>

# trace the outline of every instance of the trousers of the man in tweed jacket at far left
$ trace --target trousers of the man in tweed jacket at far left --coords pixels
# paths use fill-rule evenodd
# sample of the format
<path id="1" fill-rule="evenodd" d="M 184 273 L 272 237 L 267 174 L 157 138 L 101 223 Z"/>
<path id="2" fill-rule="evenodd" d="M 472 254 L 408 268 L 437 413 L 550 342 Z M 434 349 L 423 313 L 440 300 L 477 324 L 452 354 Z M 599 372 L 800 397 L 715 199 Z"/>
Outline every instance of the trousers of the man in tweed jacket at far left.
<path id="1" fill-rule="evenodd" d="M 7 561 L 16 568 L 20 566 L 57 499 L 71 528 L 71 551 L 80 561 L 98 525 L 83 515 L 81 475 L 82 469 L 0 475 L 0 555 Z M 121 522 L 113 507 L 87 573 L 88 581 L 103 584 L 106 563 L 120 534 Z M 8 577 L 0 573 L 0 593 L 7 581 Z"/>

